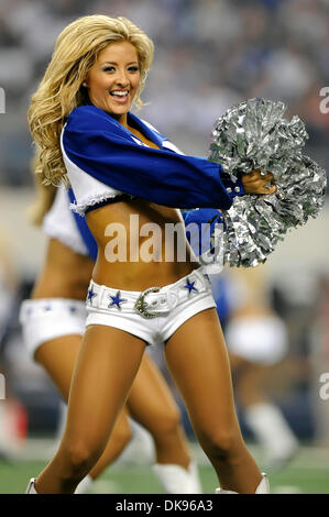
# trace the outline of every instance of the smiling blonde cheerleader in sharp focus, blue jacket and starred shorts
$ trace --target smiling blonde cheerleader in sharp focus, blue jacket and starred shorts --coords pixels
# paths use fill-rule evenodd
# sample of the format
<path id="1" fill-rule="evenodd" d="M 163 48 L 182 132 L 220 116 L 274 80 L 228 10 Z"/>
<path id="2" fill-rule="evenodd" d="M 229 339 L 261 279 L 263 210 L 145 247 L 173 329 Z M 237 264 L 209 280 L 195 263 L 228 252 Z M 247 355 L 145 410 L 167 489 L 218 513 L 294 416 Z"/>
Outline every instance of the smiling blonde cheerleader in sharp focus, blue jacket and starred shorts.
<path id="1" fill-rule="evenodd" d="M 165 230 L 182 222 L 177 208 L 228 209 L 234 196 L 272 194 L 273 176 L 254 170 L 234 184 L 220 165 L 175 152 L 133 116 L 130 109 L 141 105 L 152 56 L 152 41 L 129 20 L 80 18 L 58 36 L 32 98 L 29 123 L 41 148 L 39 170 L 53 184 L 70 183 L 74 208 L 86 217 L 98 255 L 66 429 L 30 493 L 74 493 L 106 448 L 145 346 L 157 343 L 165 343 L 167 364 L 219 491 L 268 492 L 241 436 L 209 279 L 187 241 L 182 261 L 182 250 Z M 136 217 L 139 228 L 131 234 Z M 125 231 L 116 257 L 108 244 L 118 228 Z M 143 232 L 147 235 L 150 228 L 157 229 L 157 239 L 152 260 L 145 260 Z"/>

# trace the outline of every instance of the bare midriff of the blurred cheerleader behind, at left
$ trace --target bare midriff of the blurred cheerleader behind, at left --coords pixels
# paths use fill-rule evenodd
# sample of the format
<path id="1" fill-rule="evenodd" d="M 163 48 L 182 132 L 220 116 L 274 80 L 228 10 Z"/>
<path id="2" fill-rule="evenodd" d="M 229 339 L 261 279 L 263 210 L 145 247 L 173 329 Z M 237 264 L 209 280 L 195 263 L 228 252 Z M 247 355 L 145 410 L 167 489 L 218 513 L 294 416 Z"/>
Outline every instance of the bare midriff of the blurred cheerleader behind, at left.
<path id="1" fill-rule="evenodd" d="M 85 300 L 92 267 L 94 262 L 88 256 L 77 254 L 56 239 L 51 239 L 31 298 Z"/>

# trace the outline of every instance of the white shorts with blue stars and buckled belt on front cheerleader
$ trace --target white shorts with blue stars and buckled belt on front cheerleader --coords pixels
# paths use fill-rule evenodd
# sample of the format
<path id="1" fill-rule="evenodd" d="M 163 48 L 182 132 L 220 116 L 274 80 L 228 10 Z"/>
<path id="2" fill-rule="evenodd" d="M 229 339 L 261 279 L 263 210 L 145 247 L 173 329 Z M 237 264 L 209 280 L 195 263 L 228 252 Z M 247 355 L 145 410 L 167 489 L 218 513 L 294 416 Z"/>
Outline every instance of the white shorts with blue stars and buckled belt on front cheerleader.
<path id="1" fill-rule="evenodd" d="M 86 327 L 116 327 L 146 344 L 165 343 L 186 320 L 211 307 L 216 307 L 216 302 L 209 278 L 201 268 L 156 292 L 155 288 L 143 293 L 119 290 L 91 280 Z"/>

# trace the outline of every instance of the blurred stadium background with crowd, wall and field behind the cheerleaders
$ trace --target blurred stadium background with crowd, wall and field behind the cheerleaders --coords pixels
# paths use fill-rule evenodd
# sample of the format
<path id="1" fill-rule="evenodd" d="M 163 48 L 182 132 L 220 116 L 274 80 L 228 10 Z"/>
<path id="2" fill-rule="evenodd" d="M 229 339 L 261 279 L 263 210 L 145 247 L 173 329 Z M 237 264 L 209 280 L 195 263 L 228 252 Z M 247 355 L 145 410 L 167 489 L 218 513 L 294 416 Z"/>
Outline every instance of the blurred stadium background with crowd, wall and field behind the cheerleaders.
<path id="1" fill-rule="evenodd" d="M 21 420 L 17 458 L 0 458 L 2 494 L 21 493 L 40 471 L 59 415 L 57 393 L 26 356 L 18 323 L 20 300 L 45 249 L 43 235 L 26 220 L 33 198 L 26 109 L 58 33 L 73 19 L 92 13 L 125 15 L 153 38 L 155 59 L 143 94 L 149 105 L 141 114 L 185 153 L 206 155 L 216 117 L 237 101 L 265 97 L 284 101 L 288 116 L 299 114 L 309 133 L 307 153 L 329 169 L 329 114 L 320 110 L 320 90 L 329 91 L 328 0 L 0 0 L 2 292 L 12 278 L 2 293 L 11 310 L 0 361 L 7 403 Z M 274 307 L 290 337 L 289 354 L 268 389 L 304 444 L 290 466 L 273 475 L 276 492 L 329 493 L 329 398 L 319 394 L 320 375 L 329 372 L 328 222 L 327 206 L 317 220 L 293 230 L 266 264 Z M 242 427 L 254 447 L 243 421 Z M 191 447 L 202 465 L 204 490 L 211 493 L 212 471 Z M 140 460 L 140 465 L 127 461 L 124 469 L 119 462 L 105 475 L 105 490 L 156 492 Z"/>

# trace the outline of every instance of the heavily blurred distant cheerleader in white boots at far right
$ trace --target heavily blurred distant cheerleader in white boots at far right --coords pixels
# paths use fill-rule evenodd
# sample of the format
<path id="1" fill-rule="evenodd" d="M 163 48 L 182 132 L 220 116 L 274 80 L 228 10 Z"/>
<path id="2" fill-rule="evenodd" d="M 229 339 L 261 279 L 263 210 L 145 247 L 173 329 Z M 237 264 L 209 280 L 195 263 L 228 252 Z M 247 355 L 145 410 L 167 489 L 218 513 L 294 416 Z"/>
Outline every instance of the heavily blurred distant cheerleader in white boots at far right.
<path id="1" fill-rule="evenodd" d="M 288 353 L 286 326 L 271 307 L 265 265 L 231 270 L 227 283 L 230 316 L 224 336 L 235 397 L 245 424 L 265 452 L 267 469 L 279 470 L 298 450 L 295 433 L 266 393 L 266 381 Z M 216 283 L 213 289 L 216 298 Z"/>

